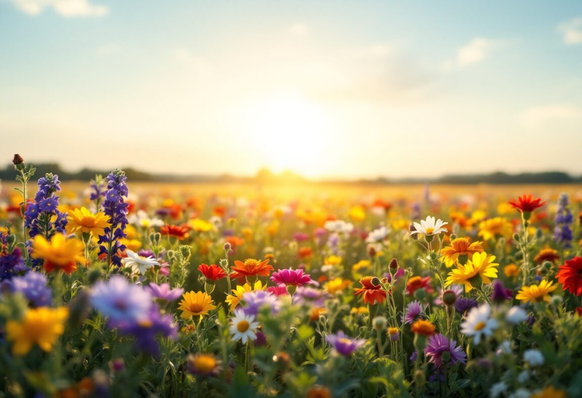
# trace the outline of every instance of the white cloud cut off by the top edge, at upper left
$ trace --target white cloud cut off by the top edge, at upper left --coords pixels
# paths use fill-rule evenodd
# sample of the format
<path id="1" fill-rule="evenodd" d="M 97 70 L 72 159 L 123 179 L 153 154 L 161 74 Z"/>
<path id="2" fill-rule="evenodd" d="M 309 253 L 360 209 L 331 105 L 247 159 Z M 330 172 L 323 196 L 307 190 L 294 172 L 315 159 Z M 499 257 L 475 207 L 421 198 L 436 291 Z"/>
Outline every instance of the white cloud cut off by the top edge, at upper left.
<path id="1" fill-rule="evenodd" d="M 29 15 L 38 15 L 52 8 L 61 16 L 103 16 L 109 12 L 104 5 L 94 5 L 88 0 L 12 0 L 13 5 Z"/>

